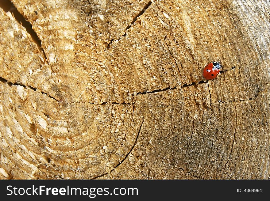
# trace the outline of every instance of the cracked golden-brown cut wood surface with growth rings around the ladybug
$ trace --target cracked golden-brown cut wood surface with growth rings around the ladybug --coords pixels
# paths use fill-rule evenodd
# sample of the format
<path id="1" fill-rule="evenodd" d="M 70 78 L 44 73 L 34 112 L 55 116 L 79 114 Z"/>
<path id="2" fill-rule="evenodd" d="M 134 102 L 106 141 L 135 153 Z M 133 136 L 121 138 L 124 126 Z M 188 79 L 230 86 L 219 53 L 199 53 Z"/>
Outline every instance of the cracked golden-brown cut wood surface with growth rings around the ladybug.
<path id="1" fill-rule="evenodd" d="M 268 0 L 12 2 L 0 179 L 269 179 Z"/>

